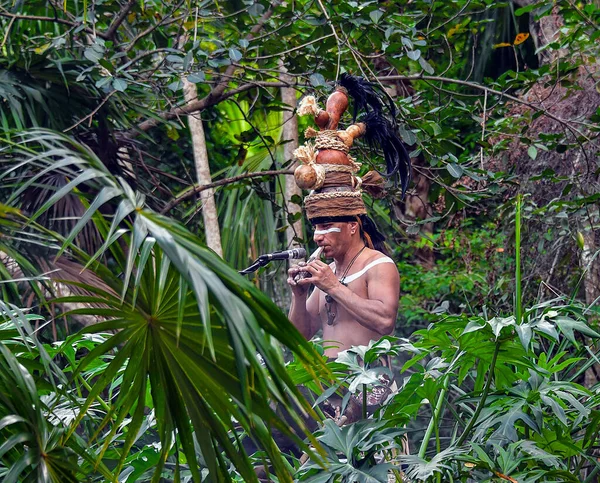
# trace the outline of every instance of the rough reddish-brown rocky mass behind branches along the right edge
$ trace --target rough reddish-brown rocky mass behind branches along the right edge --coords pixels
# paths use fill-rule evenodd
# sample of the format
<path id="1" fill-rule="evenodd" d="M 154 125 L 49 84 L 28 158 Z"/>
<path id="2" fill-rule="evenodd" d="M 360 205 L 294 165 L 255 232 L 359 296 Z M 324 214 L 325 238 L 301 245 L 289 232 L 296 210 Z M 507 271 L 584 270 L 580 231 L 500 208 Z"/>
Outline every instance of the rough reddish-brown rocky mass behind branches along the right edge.
<path id="1" fill-rule="evenodd" d="M 525 6 L 534 2 L 515 0 L 514 3 Z M 562 26 L 558 7 L 554 7 L 551 15 L 533 22 L 531 33 L 536 46 L 554 42 Z M 559 62 L 573 61 L 564 50 L 544 52 L 540 62 L 551 65 L 550 72 L 556 72 Z M 563 215 L 562 221 L 552 221 L 552 213 L 543 222 L 526 221 L 536 233 L 543 234 L 546 230 L 548 243 L 542 247 L 543 241 L 539 238 L 525 237 L 524 253 L 526 256 L 535 254 L 529 273 L 531 280 L 547 285 L 550 291 L 568 293 L 582 277 L 580 295 L 591 304 L 600 296 L 600 257 L 594 257 L 600 249 L 600 234 L 593 228 L 600 221 L 599 204 L 590 199 L 600 193 L 600 141 L 597 132 L 593 132 L 594 127 L 597 130 L 595 116 L 600 108 L 600 66 L 593 58 L 575 60 L 580 65 L 573 65 L 558 80 L 542 77 L 522 93 L 520 98 L 529 106 L 514 103 L 507 114 L 522 130 L 516 135 L 495 137 L 492 144 L 504 143 L 506 149 L 486 162 L 491 170 L 513 173 L 517 181 L 514 191 L 527 193 L 538 207 L 559 198 L 567 203 L 588 198 L 585 206 L 579 210 L 574 208 L 568 217 Z M 543 111 L 541 115 L 540 111 Z M 531 144 L 522 142 L 524 136 L 530 140 L 540 139 L 551 149 L 534 147 L 529 151 Z M 556 145 L 552 146 L 554 139 Z M 540 176 L 544 174 L 546 176 Z"/>

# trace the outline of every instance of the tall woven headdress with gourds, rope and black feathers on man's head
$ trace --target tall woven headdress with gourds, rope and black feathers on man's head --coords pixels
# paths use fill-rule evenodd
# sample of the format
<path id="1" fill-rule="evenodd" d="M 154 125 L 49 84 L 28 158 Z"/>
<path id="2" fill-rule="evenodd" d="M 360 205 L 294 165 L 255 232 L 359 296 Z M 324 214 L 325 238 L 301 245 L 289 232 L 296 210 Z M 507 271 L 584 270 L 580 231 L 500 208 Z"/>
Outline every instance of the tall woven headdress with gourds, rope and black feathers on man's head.
<path id="1" fill-rule="evenodd" d="M 349 98 L 354 104 L 353 124 L 339 129 Z M 298 114 L 314 116 L 319 127 L 319 130 L 306 130 L 305 137 L 314 142 L 307 142 L 294 153 L 303 163 L 294 173 L 296 184 L 311 190 L 304 198 L 311 222 L 364 217 L 367 209 L 362 192 L 364 190 L 375 198 L 383 197 L 382 176 L 393 178 L 395 183 L 399 178 L 404 196 L 411 178 L 410 156 L 397 133 L 395 106 L 379 85 L 344 74 L 327 99 L 324 110 L 313 96 L 306 96 L 300 103 Z M 373 152 L 383 153 L 385 171 L 369 171 L 362 179 L 356 175 L 361 164 L 349 152 L 359 137 L 365 138 Z"/>

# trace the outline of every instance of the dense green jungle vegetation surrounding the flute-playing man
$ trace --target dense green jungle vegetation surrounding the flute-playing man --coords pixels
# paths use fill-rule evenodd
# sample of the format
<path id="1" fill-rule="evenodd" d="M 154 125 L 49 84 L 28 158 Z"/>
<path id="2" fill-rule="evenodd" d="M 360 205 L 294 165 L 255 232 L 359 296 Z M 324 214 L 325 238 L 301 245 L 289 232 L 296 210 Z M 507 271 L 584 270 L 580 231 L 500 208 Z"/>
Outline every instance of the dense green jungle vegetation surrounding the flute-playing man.
<path id="1" fill-rule="evenodd" d="M 0 26 L 2 481 L 598 480 L 600 2 L 2 0 Z M 413 182 L 368 203 L 395 337 L 327 363 L 284 263 L 237 270 L 314 248 L 295 109 L 343 72 L 393 97 Z M 385 354 L 381 410 L 304 428 L 299 384 L 360 397 Z"/>

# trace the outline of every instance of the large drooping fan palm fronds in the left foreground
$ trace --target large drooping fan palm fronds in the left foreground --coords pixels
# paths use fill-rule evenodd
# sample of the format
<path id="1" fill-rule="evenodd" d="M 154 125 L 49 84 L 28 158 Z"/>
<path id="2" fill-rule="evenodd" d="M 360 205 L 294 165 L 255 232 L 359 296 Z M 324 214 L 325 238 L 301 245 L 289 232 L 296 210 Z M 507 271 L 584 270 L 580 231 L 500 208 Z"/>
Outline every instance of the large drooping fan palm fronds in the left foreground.
<path id="1" fill-rule="evenodd" d="M 61 239 L 56 255 L 69 254 L 86 264 L 105 288 L 65 280 L 91 295 L 55 302 L 87 304 L 72 313 L 104 319 L 78 336 L 115 331 L 81 360 L 78 371 L 105 354 L 114 357 L 94 380 L 68 435 L 74 434 L 94 398 L 123 371 L 121 391 L 103 422 L 114 434 L 120 422 L 132 418 L 117 469 L 143 421 L 149 388 L 163 448 L 155 480 L 177 442 L 194 480 L 200 481 L 194 451 L 197 441 L 216 479 L 227 477 L 223 451 L 245 481 L 256 481 L 250 460 L 234 436 L 241 426 L 265 450 L 280 481 L 291 481 L 270 430 L 278 428 L 298 444 L 302 442 L 290 434 L 269 401 L 294 415 L 304 411 L 314 416 L 314 412 L 285 371 L 277 342 L 292 348 L 307 370 L 325 372 L 326 368 L 285 315 L 182 225 L 146 208 L 143 197 L 113 177 L 85 146 L 44 130 L 25 132 L 7 145 L 5 154 L 10 151 L 14 159 L 13 171 L 36 165 L 41 171 L 65 173 L 71 180 L 31 214 L 31 224 L 62 197 L 88 193 L 81 195 L 86 212 Z M 37 179 L 24 177 L 10 203 L 18 206 L 20 193 Z M 112 219 L 99 211 L 108 202 L 116 204 Z M 106 240 L 95 254 L 72 243 L 87 223 L 93 223 Z M 115 266 L 108 269 L 99 263 L 103 255 L 110 256 Z M 295 418 L 302 427 L 300 417 Z"/>

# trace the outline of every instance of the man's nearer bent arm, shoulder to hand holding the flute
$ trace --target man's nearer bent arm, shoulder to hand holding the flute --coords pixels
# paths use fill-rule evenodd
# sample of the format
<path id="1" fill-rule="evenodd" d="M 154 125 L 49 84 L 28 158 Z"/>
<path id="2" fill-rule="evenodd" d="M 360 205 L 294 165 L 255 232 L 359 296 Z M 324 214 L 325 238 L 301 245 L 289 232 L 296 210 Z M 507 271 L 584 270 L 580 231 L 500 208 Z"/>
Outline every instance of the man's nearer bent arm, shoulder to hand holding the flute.
<path id="1" fill-rule="evenodd" d="M 313 283 L 343 305 L 360 325 L 381 335 L 392 333 L 400 294 L 400 277 L 394 264 L 381 263 L 365 274 L 367 298 L 342 285 L 323 262 L 319 261 L 315 269 L 309 271 L 313 274 Z"/>

